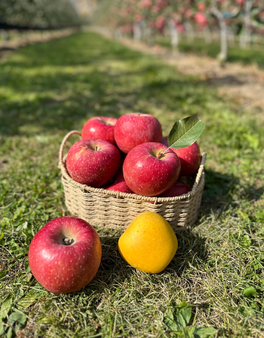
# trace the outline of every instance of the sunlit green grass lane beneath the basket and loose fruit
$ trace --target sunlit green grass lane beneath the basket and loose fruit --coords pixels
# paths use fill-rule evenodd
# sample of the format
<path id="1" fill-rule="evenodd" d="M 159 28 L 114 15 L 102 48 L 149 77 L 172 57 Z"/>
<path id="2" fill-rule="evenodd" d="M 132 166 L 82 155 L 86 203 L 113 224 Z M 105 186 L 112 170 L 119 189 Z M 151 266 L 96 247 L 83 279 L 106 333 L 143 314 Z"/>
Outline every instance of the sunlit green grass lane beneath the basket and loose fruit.
<path id="1" fill-rule="evenodd" d="M 0 73 L 0 336 L 263 337 L 263 122 L 195 77 L 95 33 L 20 49 Z M 182 117 L 205 122 L 199 218 L 154 275 L 122 260 L 120 232 L 92 224 L 103 251 L 95 279 L 52 294 L 35 281 L 27 254 L 44 224 L 69 215 L 60 142 L 92 116 L 131 111 L 156 116 L 164 135 Z"/>

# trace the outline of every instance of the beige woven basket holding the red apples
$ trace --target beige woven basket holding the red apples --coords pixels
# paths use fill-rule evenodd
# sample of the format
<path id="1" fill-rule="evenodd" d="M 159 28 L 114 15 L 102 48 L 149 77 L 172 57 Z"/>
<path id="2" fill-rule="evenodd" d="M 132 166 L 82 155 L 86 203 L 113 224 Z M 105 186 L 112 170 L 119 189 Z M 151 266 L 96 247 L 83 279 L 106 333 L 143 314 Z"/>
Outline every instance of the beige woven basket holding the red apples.
<path id="1" fill-rule="evenodd" d="M 70 131 L 63 139 L 59 153 L 59 168 L 65 194 L 65 204 L 71 214 L 88 221 L 93 226 L 125 230 L 133 219 L 144 211 L 154 211 L 163 216 L 175 232 L 185 230 L 197 219 L 205 184 L 204 163 L 206 154 L 189 185 L 187 194 L 176 197 L 147 197 L 119 191 L 92 188 L 76 182 L 69 175 L 63 149 L 73 134 Z M 152 202 L 152 203 L 148 203 Z"/>

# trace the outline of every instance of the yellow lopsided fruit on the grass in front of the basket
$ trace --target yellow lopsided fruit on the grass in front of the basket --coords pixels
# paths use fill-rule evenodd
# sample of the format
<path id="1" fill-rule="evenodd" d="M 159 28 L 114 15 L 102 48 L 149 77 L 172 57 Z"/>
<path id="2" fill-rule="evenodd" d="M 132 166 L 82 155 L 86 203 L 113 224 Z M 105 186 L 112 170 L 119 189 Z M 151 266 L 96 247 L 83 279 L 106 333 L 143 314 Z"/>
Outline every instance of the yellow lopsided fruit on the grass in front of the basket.
<path id="1" fill-rule="evenodd" d="M 118 240 L 122 258 L 138 270 L 158 273 L 166 268 L 178 248 L 169 223 L 157 213 L 139 214 Z"/>

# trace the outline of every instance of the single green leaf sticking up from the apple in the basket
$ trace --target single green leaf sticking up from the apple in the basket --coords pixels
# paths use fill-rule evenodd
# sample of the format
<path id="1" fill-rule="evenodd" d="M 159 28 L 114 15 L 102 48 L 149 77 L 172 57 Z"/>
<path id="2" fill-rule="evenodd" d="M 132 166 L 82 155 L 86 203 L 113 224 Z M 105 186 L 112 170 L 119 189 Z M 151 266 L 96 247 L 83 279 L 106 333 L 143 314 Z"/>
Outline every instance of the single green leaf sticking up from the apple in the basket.
<path id="1" fill-rule="evenodd" d="M 195 116 L 177 121 L 168 136 L 169 147 L 180 149 L 192 145 L 202 134 L 204 122 Z"/>

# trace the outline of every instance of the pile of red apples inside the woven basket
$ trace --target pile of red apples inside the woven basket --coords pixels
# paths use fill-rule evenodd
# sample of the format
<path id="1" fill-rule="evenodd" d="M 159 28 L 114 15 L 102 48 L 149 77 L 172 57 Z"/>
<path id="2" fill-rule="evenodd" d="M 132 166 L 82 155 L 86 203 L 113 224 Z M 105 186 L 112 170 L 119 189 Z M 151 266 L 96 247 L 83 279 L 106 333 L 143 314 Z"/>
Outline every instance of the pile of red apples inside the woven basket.
<path id="1" fill-rule="evenodd" d="M 196 142 L 180 149 L 169 147 L 160 122 L 141 113 L 89 119 L 82 140 L 70 148 L 66 160 L 70 176 L 79 183 L 159 197 L 190 191 L 178 178 L 192 175 L 199 165 Z"/>

